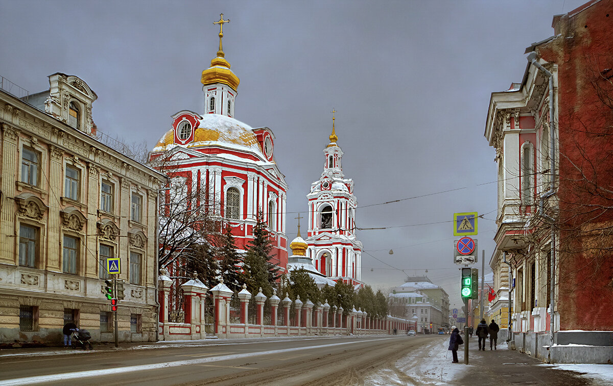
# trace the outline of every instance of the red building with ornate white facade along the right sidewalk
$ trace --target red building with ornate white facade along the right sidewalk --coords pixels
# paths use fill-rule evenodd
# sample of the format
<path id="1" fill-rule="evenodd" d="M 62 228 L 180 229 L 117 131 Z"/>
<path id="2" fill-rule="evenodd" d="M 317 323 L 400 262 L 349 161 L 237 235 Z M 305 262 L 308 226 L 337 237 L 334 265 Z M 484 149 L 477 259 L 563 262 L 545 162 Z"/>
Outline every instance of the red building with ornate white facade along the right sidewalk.
<path id="1" fill-rule="evenodd" d="M 612 12 L 592 0 L 554 16 L 554 35 L 525 51 L 522 81 L 493 92 L 487 112 L 498 164 L 490 309 L 504 324 L 510 292 L 514 345 L 551 362 L 613 360 Z"/>

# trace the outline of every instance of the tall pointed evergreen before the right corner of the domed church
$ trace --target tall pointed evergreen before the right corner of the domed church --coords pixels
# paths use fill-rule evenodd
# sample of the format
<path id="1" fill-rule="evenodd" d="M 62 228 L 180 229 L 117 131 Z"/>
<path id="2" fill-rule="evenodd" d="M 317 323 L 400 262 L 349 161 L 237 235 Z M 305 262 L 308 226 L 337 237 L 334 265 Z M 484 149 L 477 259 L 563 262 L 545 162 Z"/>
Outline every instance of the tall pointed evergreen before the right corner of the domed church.
<path id="1" fill-rule="evenodd" d="M 245 284 L 252 294 L 257 294 L 259 288 L 267 297 L 272 295 L 272 286 L 280 278 L 280 267 L 272 264 L 272 243 L 267 225 L 258 213 L 256 225 L 253 227 L 254 239 L 245 255 Z"/>

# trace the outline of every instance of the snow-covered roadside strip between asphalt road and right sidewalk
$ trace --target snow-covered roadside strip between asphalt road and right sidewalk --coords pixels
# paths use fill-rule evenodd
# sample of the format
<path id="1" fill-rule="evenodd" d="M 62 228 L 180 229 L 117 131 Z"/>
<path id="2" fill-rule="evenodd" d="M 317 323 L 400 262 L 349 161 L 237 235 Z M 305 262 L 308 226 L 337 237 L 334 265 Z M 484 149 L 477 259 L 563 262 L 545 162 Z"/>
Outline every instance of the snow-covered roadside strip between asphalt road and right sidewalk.
<path id="1" fill-rule="evenodd" d="M 380 369 L 365 377 L 364 385 L 447 385 L 462 377 L 469 368 L 463 363 L 451 363 L 448 346 L 448 339 L 426 344 L 397 360 L 392 367 Z"/>

